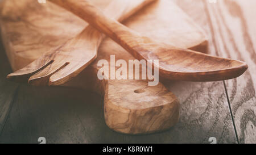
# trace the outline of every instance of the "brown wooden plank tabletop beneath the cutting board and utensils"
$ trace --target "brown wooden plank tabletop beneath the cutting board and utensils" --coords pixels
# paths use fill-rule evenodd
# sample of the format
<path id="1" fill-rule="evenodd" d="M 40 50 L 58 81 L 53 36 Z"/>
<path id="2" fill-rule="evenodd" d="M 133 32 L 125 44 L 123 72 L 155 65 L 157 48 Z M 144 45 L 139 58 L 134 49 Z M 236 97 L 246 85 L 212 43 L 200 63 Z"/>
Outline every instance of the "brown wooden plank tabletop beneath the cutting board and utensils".
<path id="1" fill-rule="evenodd" d="M 256 1 L 170 1 L 204 28 L 210 54 L 246 61 L 249 69 L 228 81 L 166 82 L 181 103 L 179 123 L 131 136 L 106 126 L 100 95 L 7 81 L 11 68 L 1 45 L 0 143 L 256 143 Z"/>

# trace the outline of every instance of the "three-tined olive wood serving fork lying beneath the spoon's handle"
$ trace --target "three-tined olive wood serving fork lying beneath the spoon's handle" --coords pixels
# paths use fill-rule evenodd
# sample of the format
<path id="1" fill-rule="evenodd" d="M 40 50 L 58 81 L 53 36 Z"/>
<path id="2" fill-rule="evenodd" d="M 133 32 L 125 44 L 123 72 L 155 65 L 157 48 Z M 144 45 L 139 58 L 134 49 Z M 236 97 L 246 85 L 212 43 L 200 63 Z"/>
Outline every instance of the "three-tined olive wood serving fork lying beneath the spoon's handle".
<path id="1" fill-rule="evenodd" d="M 152 1 L 155 0 L 113 1 L 106 7 L 105 13 L 113 19 L 122 21 Z M 82 3 L 74 2 L 77 5 Z M 72 77 L 76 77 L 96 59 L 97 50 L 103 38 L 101 32 L 88 26 L 73 39 L 52 48 L 31 64 L 9 74 L 7 78 L 19 82 L 28 81 L 33 86 L 61 85 Z"/>

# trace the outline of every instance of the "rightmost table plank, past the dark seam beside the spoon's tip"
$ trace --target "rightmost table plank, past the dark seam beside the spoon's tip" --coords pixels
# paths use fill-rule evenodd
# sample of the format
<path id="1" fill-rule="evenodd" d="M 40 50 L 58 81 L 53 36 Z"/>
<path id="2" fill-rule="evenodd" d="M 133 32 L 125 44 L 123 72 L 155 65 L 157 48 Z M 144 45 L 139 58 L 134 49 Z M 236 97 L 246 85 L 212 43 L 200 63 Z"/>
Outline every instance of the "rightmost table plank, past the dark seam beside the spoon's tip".
<path id="1" fill-rule="evenodd" d="M 205 2 L 213 48 L 220 56 L 243 60 L 249 69 L 225 81 L 240 143 L 256 143 L 256 22 L 254 0 Z"/>

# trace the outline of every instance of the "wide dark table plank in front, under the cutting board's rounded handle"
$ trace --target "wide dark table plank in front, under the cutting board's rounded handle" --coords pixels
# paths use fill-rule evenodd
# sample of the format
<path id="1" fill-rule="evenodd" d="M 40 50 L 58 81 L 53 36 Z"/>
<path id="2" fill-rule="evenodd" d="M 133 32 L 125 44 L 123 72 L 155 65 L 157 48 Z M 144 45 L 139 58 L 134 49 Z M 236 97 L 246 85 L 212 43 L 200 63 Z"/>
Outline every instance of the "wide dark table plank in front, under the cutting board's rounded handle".
<path id="1" fill-rule="evenodd" d="M 206 88 L 206 86 L 209 86 Z M 99 95 L 76 89 L 29 87 L 19 89 L 0 143 L 235 143 L 229 113 L 222 109 L 225 94 L 221 82 L 172 83 L 191 93 L 182 100 L 180 122 L 168 131 L 130 136 L 109 129 L 104 121 L 103 100 Z M 72 92 L 72 95 L 70 93 Z M 216 102 L 211 102 L 210 98 Z M 216 104 L 217 103 L 217 104 Z M 207 105 L 207 106 L 206 106 Z M 232 125 L 232 124 L 231 124 Z"/>

